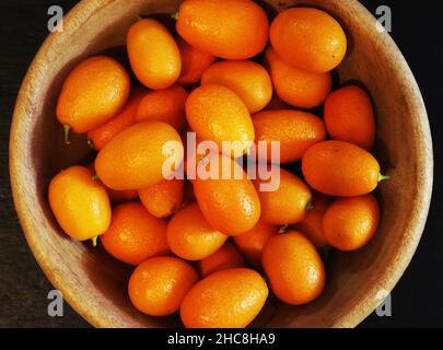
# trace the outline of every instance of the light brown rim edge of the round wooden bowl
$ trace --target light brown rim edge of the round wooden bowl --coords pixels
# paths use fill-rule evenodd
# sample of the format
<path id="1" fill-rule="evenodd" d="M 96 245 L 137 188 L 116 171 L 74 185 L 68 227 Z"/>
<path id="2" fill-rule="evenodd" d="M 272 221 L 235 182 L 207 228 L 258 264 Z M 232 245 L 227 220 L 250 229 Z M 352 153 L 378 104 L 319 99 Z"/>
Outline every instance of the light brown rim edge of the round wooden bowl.
<path id="1" fill-rule="evenodd" d="M 27 241 L 27 244 L 40 266 L 42 270 L 51 282 L 51 284 L 59 291 L 62 292 L 63 299 L 80 314 L 89 324 L 94 327 L 112 327 L 113 325 L 106 322 L 105 317 L 102 317 L 100 312 L 91 313 L 81 302 L 79 298 L 66 290 L 61 281 L 55 276 L 51 267 L 47 262 L 46 255 L 38 249 L 37 237 L 35 232 L 38 230 L 31 220 L 27 212 L 30 199 L 26 198 L 26 194 L 21 188 L 20 184 L 25 182 L 25 171 L 26 164 L 23 164 L 19 159 L 18 154 L 22 152 L 27 152 L 25 150 L 24 142 L 18 140 L 18 135 L 20 131 L 25 129 L 27 122 L 26 106 L 28 104 L 28 95 L 33 91 L 33 85 L 35 77 L 33 72 L 37 70 L 37 67 L 43 65 L 46 60 L 46 51 L 54 46 L 59 46 L 61 44 L 67 44 L 69 36 L 74 33 L 80 26 L 83 20 L 93 15 L 97 9 L 104 8 L 115 1 L 119 0 L 82 0 L 75 4 L 65 16 L 63 16 L 63 32 L 51 33 L 47 36 L 40 48 L 38 49 L 36 56 L 34 57 L 26 75 L 21 84 L 19 95 L 15 102 L 13 118 L 10 129 L 10 143 L 9 143 L 9 170 L 10 170 L 10 182 L 12 188 L 12 196 L 15 206 L 15 210 L 23 229 L 23 233 Z M 369 21 L 376 21 L 375 18 L 369 12 L 369 10 L 361 4 L 358 0 L 341 0 L 346 7 L 350 7 L 352 10 L 364 15 Z M 425 221 L 428 218 L 428 212 L 431 203 L 432 197 L 432 184 L 433 184 L 433 152 L 432 152 L 432 137 L 428 120 L 428 114 L 424 106 L 423 98 L 421 96 L 420 89 L 417 81 L 405 59 L 400 49 L 397 47 L 393 38 L 386 33 L 378 33 L 380 39 L 383 40 L 385 47 L 392 48 L 392 55 L 389 60 L 394 61 L 403 74 L 407 77 L 410 83 L 413 109 L 417 110 L 418 115 L 418 126 L 420 127 L 420 133 L 422 135 L 422 143 L 417 150 L 418 154 L 422 158 L 422 175 L 419 176 L 417 183 L 417 191 L 420 196 L 417 201 L 417 215 L 413 218 L 413 232 L 411 232 L 411 240 L 408 241 L 406 247 L 403 248 L 399 259 L 389 273 L 385 276 L 385 283 L 383 285 L 384 290 L 390 292 L 398 280 L 401 278 L 406 268 L 408 267 L 423 233 Z M 374 285 L 374 288 L 376 288 Z M 363 319 L 365 319 L 377 306 L 376 302 L 373 300 L 373 289 L 369 289 L 365 295 L 362 295 L 358 303 L 352 305 L 346 314 L 343 314 L 339 320 L 335 322 L 331 327 L 354 327 L 359 325 Z M 380 288 L 380 285 L 377 287 Z"/>

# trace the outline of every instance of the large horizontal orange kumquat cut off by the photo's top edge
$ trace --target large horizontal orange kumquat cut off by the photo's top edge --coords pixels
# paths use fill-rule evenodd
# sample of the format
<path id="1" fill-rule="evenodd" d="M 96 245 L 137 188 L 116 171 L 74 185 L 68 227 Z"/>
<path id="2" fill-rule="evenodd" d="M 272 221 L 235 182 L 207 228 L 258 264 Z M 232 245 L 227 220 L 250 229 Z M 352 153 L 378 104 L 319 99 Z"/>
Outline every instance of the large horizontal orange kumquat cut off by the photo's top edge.
<path id="1" fill-rule="evenodd" d="M 269 21 L 250 0 L 185 0 L 178 34 L 198 49 L 225 59 L 247 59 L 265 49 Z"/>

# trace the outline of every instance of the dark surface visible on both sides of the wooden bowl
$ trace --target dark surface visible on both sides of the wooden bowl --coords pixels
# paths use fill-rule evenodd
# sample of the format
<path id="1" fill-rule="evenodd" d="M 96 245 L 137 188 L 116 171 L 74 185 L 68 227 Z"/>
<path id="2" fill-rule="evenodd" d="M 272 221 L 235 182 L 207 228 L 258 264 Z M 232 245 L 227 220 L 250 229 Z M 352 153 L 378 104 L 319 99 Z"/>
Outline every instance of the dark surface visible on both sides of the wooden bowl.
<path id="1" fill-rule="evenodd" d="M 327 1 L 327 0 L 325 0 Z M 47 315 L 53 289 L 36 264 L 22 234 L 12 202 L 8 173 L 9 129 L 15 97 L 34 55 L 47 36 L 51 4 L 65 13 L 74 0 L 0 1 L 0 327 L 89 327 L 69 305 L 63 317 Z M 361 327 L 443 327 L 443 183 L 439 156 L 443 130 L 443 33 L 441 0 L 363 0 L 375 13 L 378 5 L 393 11 L 393 32 L 421 88 L 428 107 L 434 147 L 435 179 L 428 224 L 417 254 L 392 294 L 392 317 L 372 314 Z M 407 142 L 408 140 L 405 140 Z M 440 196 L 439 196 L 440 195 Z"/>

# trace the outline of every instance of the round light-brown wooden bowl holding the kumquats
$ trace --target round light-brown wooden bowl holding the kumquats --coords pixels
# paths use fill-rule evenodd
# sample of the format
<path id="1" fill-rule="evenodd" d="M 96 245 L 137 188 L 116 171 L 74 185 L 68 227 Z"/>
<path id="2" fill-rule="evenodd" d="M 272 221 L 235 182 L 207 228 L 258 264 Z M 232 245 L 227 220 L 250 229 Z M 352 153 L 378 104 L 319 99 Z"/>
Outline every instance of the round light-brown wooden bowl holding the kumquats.
<path id="1" fill-rule="evenodd" d="M 84 138 L 62 142 L 55 117 L 61 83 L 88 56 L 125 43 L 138 14 L 173 13 L 178 0 L 84 0 L 65 18 L 35 57 L 16 102 L 10 172 L 16 211 L 27 242 L 65 300 L 96 327 L 179 326 L 178 317 L 149 317 L 127 296 L 130 267 L 65 235 L 49 210 L 49 179 L 88 154 Z M 354 253 L 336 253 L 324 294 L 305 306 L 270 300 L 253 326 L 353 327 L 384 299 L 408 266 L 419 243 L 432 189 L 432 142 L 419 88 L 388 34 L 354 0 L 268 0 L 281 11 L 308 4 L 328 11 L 347 31 L 349 54 L 340 82 L 358 80 L 371 92 L 378 124 L 376 155 L 392 178 L 380 186 L 383 218 L 374 240 Z M 154 43 L 153 43 L 154 45 Z"/>

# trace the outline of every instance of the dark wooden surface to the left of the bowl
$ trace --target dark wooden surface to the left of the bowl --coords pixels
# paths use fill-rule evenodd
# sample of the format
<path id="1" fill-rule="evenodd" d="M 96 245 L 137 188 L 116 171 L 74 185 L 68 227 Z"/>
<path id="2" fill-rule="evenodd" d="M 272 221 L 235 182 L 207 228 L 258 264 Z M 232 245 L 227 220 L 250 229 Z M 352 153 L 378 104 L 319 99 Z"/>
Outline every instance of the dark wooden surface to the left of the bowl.
<path id="1" fill-rule="evenodd" d="M 62 1 L 68 11 L 77 1 Z M 15 97 L 27 67 L 48 34 L 46 11 L 54 1 L 1 1 L 0 38 L 0 327 L 88 327 L 65 303 L 63 317 L 49 317 L 54 289 L 26 244 L 12 201 L 8 141 Z M 20 39 L 19 39 L 20 38 Z"/>

